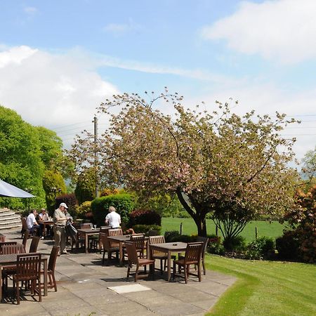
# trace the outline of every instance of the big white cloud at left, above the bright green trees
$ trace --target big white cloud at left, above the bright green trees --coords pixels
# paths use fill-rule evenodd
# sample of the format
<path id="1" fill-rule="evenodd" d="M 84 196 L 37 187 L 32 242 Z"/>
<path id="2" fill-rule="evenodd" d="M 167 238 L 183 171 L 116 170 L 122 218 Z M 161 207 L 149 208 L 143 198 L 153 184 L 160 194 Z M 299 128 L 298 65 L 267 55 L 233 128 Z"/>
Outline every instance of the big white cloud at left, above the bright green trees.
<path id="1" fill-rule="evenodd" d="M 0 104 L 33 125 L 89 122 L 114 93 L 117 88 L 74 52 L 53 55 L 18 46 L 0 53 Z"/>

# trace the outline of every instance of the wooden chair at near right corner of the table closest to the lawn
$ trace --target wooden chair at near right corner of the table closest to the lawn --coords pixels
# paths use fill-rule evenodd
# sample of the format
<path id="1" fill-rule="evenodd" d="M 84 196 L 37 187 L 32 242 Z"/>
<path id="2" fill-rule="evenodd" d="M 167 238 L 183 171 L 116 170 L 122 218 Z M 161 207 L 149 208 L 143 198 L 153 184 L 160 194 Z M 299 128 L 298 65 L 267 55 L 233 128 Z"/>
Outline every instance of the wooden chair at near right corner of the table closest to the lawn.
<path id="1" fill-rule="evenodd" d="M 184 269 L 184 278 L 185 283 L 187 283 L 188 275 L 195 275 L 199 277 L 199 282 L 202 281 L 201 277 L 201 255 L 203 249 L 203 242 L 189 242 L 187 244 L 187 249 L 185 249 L 185 256 L 179 260 L 173 261 L 173 279 L 178 277 L 183 277 L 183 275 L 179 274 L 176 275 L 176 265 L 179 266 L 179 271 L 181 268 Z M 190 265 L 197 265 L 197 275 L 190 272 Z"/>

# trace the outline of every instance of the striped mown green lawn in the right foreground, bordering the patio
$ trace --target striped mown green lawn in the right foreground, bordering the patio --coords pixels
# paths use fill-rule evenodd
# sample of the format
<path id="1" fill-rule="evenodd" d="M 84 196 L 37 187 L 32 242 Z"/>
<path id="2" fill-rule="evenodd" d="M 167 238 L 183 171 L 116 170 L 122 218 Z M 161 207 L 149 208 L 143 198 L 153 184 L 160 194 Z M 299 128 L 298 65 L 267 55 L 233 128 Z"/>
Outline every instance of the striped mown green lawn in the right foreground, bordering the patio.
<path id="1" fill-rule="evenodd" d="M 206 256 L 206 268 L 238 277 L 207 315 L 316 315 L 316 266 Z"/>

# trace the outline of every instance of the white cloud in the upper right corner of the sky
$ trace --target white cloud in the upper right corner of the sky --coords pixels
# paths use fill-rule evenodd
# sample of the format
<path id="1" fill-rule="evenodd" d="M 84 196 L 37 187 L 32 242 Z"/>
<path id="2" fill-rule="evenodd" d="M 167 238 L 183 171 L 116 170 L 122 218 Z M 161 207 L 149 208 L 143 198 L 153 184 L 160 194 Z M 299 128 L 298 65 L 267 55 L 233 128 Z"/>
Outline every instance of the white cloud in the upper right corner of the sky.
<path id="1" fill-rule="evenodd" d="M 204 39 L 225 39 L 233 50 L 294 63 L 316 58 L 316 1 L 243 1 L 232 15 L 202 29 Z"/>

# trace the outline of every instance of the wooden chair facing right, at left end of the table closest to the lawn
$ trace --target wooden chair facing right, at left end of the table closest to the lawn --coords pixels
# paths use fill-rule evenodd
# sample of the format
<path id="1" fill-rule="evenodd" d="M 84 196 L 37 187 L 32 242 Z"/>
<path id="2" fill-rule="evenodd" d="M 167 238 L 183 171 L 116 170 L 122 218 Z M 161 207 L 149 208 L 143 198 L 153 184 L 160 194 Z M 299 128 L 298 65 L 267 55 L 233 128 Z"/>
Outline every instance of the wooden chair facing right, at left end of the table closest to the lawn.
<path id="1" fill-rule="evenodd" d="M 154 279 L 154 260 L 147 259 L 147 258 L 138 258 L 136 245 L 134 242 L 131 242 L 131 241 L 125 242 L 125 246 L 126 246 L 127 256 L 129 258 L 128 259 L 129 260 L 129 268 L 127 269 L 127 278 L 129 278 L 131 268 L 133 265 L 136 265 L 136 271 L 135 271 L 135 277 L 134 277 L 135 282 L 140 277 L 140 275 L 138 275 L 139 268 L 146 267 L 147 265 L 150 265 L 150 272 L 152 272 L 152 277 Z M 147 276 L 147 275 L 145 275 L 145 276 Z"/>

